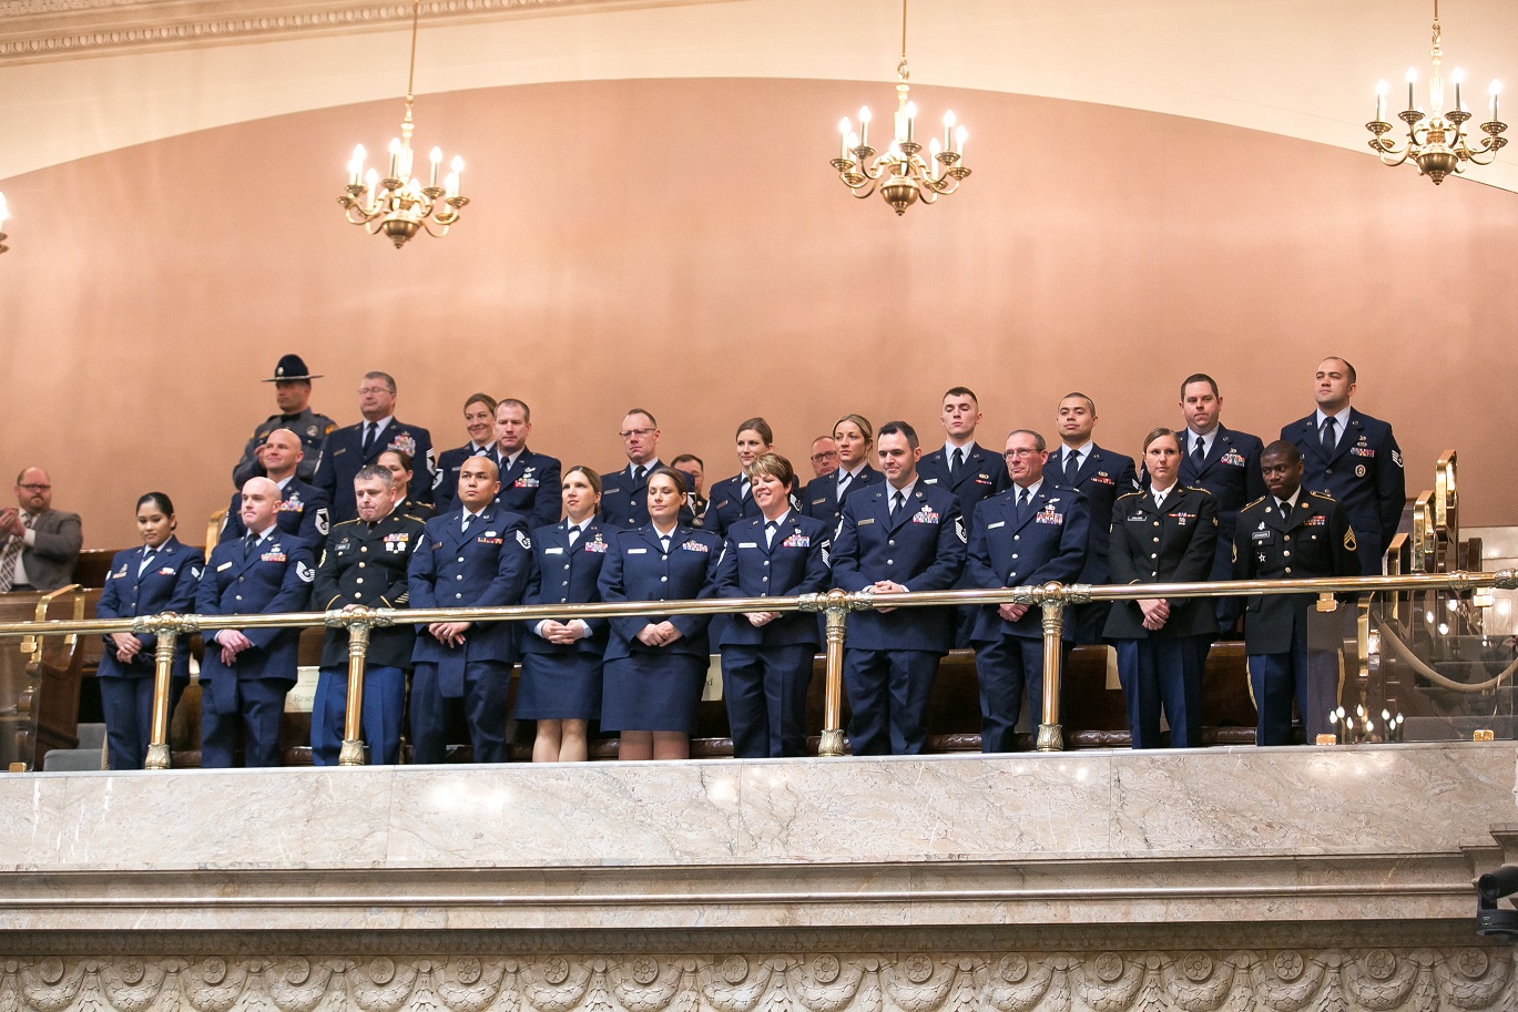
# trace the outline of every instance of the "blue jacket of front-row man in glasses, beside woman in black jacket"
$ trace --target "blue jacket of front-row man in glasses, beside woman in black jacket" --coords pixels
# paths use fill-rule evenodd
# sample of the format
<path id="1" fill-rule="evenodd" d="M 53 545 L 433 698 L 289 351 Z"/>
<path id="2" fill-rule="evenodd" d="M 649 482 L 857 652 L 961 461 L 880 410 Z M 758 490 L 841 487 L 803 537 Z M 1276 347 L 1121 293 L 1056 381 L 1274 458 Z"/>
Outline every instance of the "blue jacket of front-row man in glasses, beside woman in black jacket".
<path id="1" fill-rule="evenodd" d="M 1091 514 L 1085 496 L 1044 478 L 1019 522 L 1017 493 L 1017 486 L 1013 486 L 976 508 L 965 561 L 967 586 L 999 590 L 1050 580 L 1075 583 L 1090 549 Z M 1016 622 L 1003 619 L 996 608 L 981 608 L 970 639 L 990 643 L 1003 636 L 1043 637 L 1041 608 L 1029 607 Z M 1069 639 L 1069 624 L 1064 628 Z"/>

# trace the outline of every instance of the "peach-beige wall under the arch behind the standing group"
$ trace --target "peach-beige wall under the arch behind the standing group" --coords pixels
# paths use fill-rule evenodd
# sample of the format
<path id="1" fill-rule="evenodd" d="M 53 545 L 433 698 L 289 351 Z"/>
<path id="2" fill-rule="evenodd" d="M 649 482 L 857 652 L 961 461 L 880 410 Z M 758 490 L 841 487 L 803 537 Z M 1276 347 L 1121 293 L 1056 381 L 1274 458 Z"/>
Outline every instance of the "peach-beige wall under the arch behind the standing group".
<path id="1" fill-rule="evenodd" d="M 1515 519 L 1506 405 L 1518 350 L 1518 196 L 1369 155 L 1196 120 L 920 90 L 968 123 L 976 174 L 897 218 L 855 202 L 833 124 L 888 85 L 618 80 L 427 96 L 417 141 L 466 158 L 466 217 L 396 252 L 342 223 L 355 141 L 398 102 L 175 137 L 3 181 L 29 211 L 0 259 L 3 463 L 41 463 L 91 546 L 134 540 L 170 492 L 187 533 L 225 505 L 257 382 L 285 350 L 357 417 L 370 367 L 404 420 L 461 442 L 475 388 L 533 404 L 536 449 L 610 467 L 622 410 L 666 451 L 733 470 L 764 413 L 798 463 L 844 411 L 935 431 L 968 382 L 988 432 L 1047 429 L 1070 388 L 1134 452 L 1192 370 L 1225 419 L 1272 435 L 1312 407 L 1328 352 L 1390 419 L 1413 476 L 1462 452 L 1468 523 Z M 1034 130 L 1037 123 L 1058 130 Z M 1111 147 L 1082 147 L 1107 137 Z M 191 522 L 193 520 L 193 522 Z M 191 539 L 193 540 L 193 539 Z"/>

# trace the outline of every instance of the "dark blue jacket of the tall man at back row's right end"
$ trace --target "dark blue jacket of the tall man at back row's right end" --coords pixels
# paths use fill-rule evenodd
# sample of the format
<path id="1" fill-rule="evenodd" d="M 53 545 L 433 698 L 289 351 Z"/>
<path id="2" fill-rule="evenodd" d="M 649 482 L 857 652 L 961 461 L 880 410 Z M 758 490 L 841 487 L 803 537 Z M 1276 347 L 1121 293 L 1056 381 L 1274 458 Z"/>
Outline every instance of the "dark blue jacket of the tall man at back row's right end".
<path id="1" fill-rule="evenodd" d="M 1392 426 L 1350 408 L 1350 422 L 1333 448 L 1322 445 L 1318 413 L 1281 429 L 1302 452 L 1302 489 L 1331 496 L 1354 525 L 1360 574 L 1378 577 L 1381 557 L 1397 536 L 1407 505 L 1403 451 Z"/>

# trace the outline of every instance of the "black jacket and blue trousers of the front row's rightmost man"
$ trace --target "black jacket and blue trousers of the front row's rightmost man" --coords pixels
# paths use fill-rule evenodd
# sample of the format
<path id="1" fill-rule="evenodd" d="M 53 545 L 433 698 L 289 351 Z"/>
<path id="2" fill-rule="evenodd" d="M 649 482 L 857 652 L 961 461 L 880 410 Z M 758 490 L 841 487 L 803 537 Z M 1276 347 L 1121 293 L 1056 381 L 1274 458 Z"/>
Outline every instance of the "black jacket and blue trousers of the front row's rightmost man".
<path id="1" fill-rule="evenodd" d="M 1271 496 L 1239 513 L 1233 578 L 1357 577 L 1362 574 L 1356 549 L 1357 533 L 1343 507 L 1302 487 L 1289 517 L 1281 516 Z M 1258 745 L 1290 743 L 1293 696 L 1307 742 L 1328 731 L 1328 710 L 1339 704 L 1336 619 L 1316 613 L 1312 593 L 1261 593 L 1245 599 L 1243 643 L 1260 712 Z"/>

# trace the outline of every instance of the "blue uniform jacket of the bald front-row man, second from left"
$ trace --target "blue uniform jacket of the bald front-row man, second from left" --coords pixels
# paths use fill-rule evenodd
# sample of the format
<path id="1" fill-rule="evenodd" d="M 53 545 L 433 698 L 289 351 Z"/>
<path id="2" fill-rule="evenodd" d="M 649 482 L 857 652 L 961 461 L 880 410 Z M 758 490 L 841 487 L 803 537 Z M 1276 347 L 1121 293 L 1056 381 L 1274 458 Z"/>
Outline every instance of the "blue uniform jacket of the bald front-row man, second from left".
<path id="1" fill-rule="evenodd" d="M 194 610 L 206 616 L 202 677 L 226 678 L 222 651 L 211 643 L 217 630 L 238 628 L 235 621 L 217 622 L 216 616 L 276 614 L 304 611 L 311 598 L 316 560 L 311 546 L 275 530 L 250 555 L 241 542 L 225 542 L 211 549 L 200 574 Z M 240 630 L 254 645 L 237 657 L 231 677 L 238 681 L 273 680 L 294 683 L 296 643 L 301 630 Z"/>

